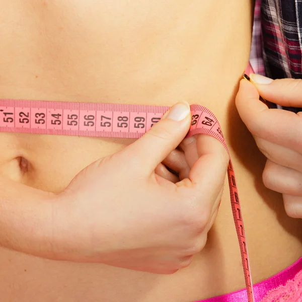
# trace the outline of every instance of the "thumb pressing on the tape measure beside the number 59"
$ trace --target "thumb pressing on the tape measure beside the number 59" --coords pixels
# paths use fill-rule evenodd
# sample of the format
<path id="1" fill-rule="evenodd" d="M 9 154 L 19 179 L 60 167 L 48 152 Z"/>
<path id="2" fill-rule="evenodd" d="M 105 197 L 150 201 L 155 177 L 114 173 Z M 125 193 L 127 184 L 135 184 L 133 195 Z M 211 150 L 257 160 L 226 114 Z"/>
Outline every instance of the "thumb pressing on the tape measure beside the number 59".
<path id="1" fill-rule="evenodd" d="M 151 173 L 184 139 L 191 122 L 190 106 L 186 102 L 174 105 L 163 118 L 141 138 L 123 151 L 126 158 L 135 158 L 138 167 Z M 145 170 L 144 170 L 145 171 Z"/>

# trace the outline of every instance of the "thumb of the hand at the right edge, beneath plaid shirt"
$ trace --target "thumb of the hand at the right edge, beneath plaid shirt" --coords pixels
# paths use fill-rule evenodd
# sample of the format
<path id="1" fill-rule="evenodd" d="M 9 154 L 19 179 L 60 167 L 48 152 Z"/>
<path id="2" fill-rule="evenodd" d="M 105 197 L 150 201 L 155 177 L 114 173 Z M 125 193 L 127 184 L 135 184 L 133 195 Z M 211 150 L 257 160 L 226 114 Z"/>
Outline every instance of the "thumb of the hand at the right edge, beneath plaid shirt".
<path id="1" fill-rule="evenodd" d="M 302 107 L 302 80 L 272 80 L 254 73 L 250 78 L 264 99 L 281 106 Z"/>

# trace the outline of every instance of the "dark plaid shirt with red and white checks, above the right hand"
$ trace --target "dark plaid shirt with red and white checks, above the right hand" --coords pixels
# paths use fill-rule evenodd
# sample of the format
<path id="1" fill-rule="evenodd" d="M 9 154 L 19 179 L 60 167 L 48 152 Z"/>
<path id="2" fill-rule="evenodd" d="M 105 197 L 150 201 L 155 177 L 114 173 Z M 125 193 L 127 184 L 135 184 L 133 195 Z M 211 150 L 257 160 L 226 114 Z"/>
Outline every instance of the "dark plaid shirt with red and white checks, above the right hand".
<path id="1" fill-rule="evenodd" d="M 302 0 L 256 0 L 250 63 L 272 79 L 302 79 Z"/>

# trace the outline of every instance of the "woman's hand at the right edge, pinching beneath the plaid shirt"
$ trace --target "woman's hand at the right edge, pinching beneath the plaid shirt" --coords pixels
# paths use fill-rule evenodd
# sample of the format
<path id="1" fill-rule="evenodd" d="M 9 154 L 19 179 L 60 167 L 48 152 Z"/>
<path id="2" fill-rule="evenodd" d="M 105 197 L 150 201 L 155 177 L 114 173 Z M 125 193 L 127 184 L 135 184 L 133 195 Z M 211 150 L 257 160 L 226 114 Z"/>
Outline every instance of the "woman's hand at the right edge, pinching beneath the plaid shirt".
<path id="1" fill-rule="evenodd" d="M 302 218 L 302 112 L 268 109 L 259 100 L 288 107 L 302 107 L 302 81 L 271 80 L 251 74 L 242 80 L 236 98 L 238 112 L 267 157 L 264 185 L 283 195 L 286 213 Z"/>

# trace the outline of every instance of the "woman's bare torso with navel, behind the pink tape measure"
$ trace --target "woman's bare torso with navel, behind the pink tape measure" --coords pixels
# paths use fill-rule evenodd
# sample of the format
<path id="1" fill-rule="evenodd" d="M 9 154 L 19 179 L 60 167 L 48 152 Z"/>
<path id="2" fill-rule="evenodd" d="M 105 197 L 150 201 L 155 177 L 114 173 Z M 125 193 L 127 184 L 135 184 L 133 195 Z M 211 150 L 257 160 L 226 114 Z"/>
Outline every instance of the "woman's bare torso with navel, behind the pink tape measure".
<path id="1" fill-rule="evenodd" d="M 231 150 L 253 281 L 302 255 L 302 223 L 262 185 L 264 158 L 234 98 L 248 62 L 248 0 L 0 0 L 0 98 L 209 108 Z M 130 140 L 0 133 L 0 173 L 59 192 L 81 169 Z M 21 173 L 18 157 L 29 171 Z M 0 249 L 4 301 L 189 302 L 244 287 L 225 185 L 204 250 L 173 275 L 55 262 Z"/>

